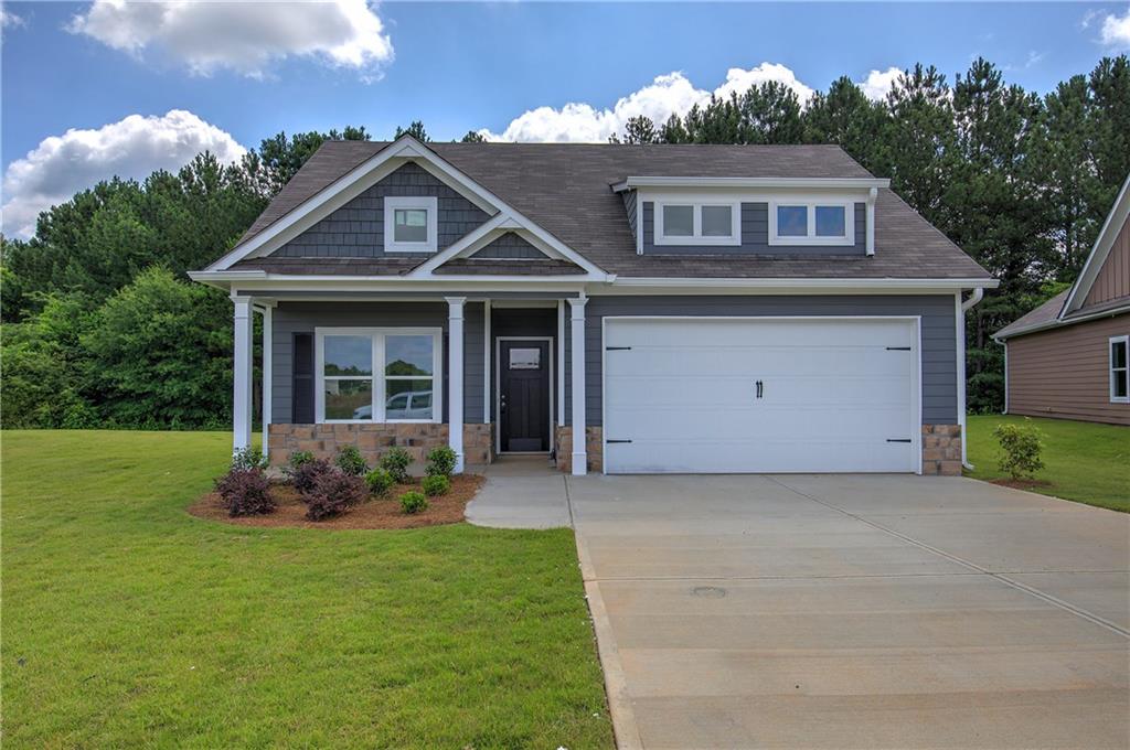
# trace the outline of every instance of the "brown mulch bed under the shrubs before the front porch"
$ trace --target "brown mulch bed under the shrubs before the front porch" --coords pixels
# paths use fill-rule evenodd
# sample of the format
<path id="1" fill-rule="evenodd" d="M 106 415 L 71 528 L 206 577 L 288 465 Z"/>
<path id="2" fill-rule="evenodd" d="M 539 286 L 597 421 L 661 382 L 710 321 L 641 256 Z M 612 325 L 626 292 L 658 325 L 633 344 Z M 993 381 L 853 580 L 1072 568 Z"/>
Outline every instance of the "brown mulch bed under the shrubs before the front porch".
<path id="1" fill-rule="evenodd" d="M 275 513 L 264 516 L 233 518 L 220 505 L 220 497 L 209 492 L 189 506 L 189 513 L 200 518 L 223 521 L 240 526 L 272 526 L 290 529 L 418 529 L 445 523 L 461 523 L 463 509 L 483 486 L 483 477 L 457 474 L 451 478 L 451 491 L 428 498 L 428 509 L 414 515 L 400 511 L 400 496 L 419 490 L 419 485 L 397 485 L 386 498 L 373 498 L 351 508 L 348 513 L 325 521 L 307 521 L 306 506 L 298 492 L 288 485 L 271 487 L 278 503 Z"/>

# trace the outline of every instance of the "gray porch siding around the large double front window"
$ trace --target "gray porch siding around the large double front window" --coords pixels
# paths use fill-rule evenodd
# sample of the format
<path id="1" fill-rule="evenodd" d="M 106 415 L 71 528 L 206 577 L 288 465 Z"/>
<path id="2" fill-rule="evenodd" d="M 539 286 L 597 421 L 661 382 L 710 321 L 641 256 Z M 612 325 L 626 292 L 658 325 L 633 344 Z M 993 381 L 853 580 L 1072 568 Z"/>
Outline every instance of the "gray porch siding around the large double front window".
<path id="1" fill-rule="evenodd" d="M 463 307 L 463 421 L 483 421 L 483 303 Z M 443 329 L 443 420 L 447 421 L 447 305 L 446 303 L 280 303 L 272 316 L 271 420 L 286 424 L 290 416 L 292 359 L 295 333 L 322 326 L 427 326 Z"/>

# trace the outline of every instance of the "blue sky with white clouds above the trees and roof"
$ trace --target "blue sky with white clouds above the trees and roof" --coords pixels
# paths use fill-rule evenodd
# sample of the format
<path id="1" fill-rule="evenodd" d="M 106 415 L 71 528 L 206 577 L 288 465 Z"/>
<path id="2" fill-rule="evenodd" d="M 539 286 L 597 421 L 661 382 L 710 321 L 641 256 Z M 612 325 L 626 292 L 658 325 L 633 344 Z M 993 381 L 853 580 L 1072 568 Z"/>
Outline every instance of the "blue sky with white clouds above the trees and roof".
<path id="1" fill-rule="evenodd" d="M 486 129 L 605 140 L 624 117 L 686 108 L 728 75 L 733 88 L 774 78 L 803 97 L 841 75 L 864 82 L 877 71 L 879 95 L 889 80 L 879 73 L 892 68 L 922 61 L 951 79 L 981 54 L 1008 80 L 1046 91 L 1130 50 L 1127 2 L 334 0 L 316 17 L 302 3 L 255 15 L 221 3 L 98 6 L 3 5 L 8 233 L 26 230 L 44 202 L 84 183 L 142 176 L 200 146 L 235 158 L 280 130 L 364 124 L 388 137 L 419 119 L 436 139 Z M 581 106 L 563 111 L 570 103 Z M 71 129 L 89 132 L 64 136 Z M 51 137 L 63 138 L 44 141 Z"/>

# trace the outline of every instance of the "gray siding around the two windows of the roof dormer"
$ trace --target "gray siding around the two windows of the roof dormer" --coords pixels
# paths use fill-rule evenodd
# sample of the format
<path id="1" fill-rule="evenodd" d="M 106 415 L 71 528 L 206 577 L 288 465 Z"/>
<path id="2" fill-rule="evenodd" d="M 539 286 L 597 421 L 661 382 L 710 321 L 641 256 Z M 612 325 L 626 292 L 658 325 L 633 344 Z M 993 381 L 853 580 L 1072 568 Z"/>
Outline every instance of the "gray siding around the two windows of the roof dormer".
<path id="1" fill-rule="evenodd" d="M 855 244 L 851 246 L 828 245 L 771 245 L 768 203 L 741 204 L 741 244 L 711 245 L 657 245 L 655 204 L 643 203 L 643 253 L 644 255 L 864 255 L 867 254 L 867 204 L 855 203 Z M 633 233 L 635 228 L 633 227 Z M 634 235 L 633 235 L 634 236 Z"/>

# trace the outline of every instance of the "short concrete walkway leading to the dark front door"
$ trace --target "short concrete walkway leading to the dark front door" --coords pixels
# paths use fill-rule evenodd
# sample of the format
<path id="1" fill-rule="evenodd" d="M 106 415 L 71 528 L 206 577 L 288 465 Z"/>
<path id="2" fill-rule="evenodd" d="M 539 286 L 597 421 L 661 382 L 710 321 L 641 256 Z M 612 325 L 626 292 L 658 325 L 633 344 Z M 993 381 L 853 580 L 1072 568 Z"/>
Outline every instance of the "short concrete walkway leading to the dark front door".
<path id="1" fill-rule="evenodd" d="M 487 481 L 467 505 L 467 520 L 495 529 L 571 526 L 565 474 L 544 455 L 505 456 L 476 470 Z"/>

